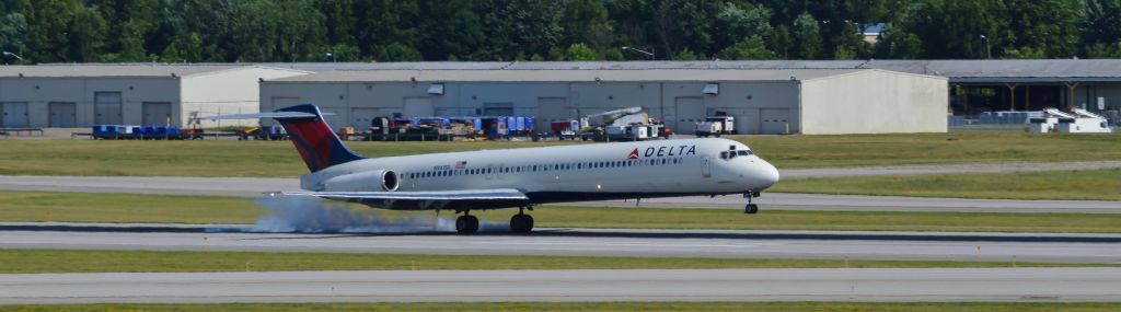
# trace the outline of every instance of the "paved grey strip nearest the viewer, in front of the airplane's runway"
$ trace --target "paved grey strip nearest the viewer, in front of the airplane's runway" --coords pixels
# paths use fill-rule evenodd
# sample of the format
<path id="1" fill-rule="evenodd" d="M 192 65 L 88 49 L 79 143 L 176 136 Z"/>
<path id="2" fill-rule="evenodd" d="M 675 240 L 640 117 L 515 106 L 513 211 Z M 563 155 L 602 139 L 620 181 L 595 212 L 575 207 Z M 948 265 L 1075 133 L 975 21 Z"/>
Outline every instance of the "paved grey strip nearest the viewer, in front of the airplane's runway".
<path id="1" fill-rule="evenodd" d="M 0 303 L 1117 301 L 1121 268 L 3 274 Z"/>

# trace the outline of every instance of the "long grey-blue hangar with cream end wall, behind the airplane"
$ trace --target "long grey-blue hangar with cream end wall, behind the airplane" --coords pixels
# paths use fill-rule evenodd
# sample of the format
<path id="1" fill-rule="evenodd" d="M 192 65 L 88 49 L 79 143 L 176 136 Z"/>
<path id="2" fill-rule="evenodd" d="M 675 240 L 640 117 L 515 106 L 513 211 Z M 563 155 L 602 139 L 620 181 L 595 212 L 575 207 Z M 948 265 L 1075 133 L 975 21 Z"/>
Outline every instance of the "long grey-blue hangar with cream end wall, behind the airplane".
<path id="1" fill-rule="evenodd" d="M 553 67 L 511 68 L 518 64 Z M 717 112 L 735 117 L 740 134 L 946 131 L 949 93 L 946 79 L 939 76 L 873 68 L 586 68 L 582 64 L 594 63 L 371 64 L 371 70 L 267 80 L 260 88 L 261 110 L 314 103 L 333 113 L 326 117 L 332 126 L 358 129 L 383 116 L 530 116 L 543 123 L 642 107 L 651 118 L 685 134 L 692 132 L 694 122 Z M 636 65 L 640 64 L 650 65 Z"/>

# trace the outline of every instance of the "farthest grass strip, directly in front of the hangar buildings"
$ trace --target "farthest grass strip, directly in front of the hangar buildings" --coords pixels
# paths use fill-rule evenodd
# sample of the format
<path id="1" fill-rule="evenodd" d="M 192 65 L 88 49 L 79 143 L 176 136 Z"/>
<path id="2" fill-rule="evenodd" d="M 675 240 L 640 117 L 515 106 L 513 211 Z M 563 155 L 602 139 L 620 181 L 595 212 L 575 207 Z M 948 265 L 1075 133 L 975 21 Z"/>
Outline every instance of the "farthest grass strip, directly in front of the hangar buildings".
<path id="1" fill-rule="evenodd" d="M 1121 159 L 1121 135 L 951 134 L 768 136 L 738 138 L 780 168 Z M 528 141 L 369 143 L 370 157 L 557 145 Z M 571 143 L 563 143 L 571 144 Z M 305 173 L 288 141 L 6 140 L 0 174 L 139 176 L 296 176 Z"/>

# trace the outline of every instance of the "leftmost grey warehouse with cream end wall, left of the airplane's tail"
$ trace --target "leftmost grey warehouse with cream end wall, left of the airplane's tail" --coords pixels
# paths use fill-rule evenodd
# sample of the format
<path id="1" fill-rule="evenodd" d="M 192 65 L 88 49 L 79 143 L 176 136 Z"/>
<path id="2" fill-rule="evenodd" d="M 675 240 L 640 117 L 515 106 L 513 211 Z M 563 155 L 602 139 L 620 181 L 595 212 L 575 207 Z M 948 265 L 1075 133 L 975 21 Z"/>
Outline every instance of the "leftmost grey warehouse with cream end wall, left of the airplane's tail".
<path id="1" fill-rule="evenodd" d="M 0 127 L 188 126 L 257 112 L 261 80 L 308 72 L 254 65 L 0 66 Z M 224 121 L 224 125 L 256 121 Z"/>

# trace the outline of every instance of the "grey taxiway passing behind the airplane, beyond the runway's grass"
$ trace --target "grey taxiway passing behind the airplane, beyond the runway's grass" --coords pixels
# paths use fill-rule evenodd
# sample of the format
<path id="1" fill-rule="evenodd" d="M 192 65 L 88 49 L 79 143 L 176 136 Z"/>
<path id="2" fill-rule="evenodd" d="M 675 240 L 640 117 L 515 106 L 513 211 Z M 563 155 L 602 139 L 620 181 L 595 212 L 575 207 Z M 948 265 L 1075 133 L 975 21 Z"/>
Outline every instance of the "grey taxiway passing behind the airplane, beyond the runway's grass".
<path id="1" fill-rule="evenodd" d="M 1112 162 L 1100 162 L 1106 165 Z M 1118 162 L 1121 164 L 1121 162 Z M 1096 164 L 1096 163 L 1094 163 Z M 870 168 L 871 172 L 895 172 L 899 167 Z M 926 169 L 927 167 L 921 167 Z M 1019 168 L 1011 166 L 1011 168 Z M 832 174 L 842 168 L 793 169 L 795 173 Z M 784 171 L 787 172 L 787 171 Z M 785 173 L 786 174 L 786 173 Z M 140 176 L 2 176 L 0 190 L 52 192 L 103 192 L 176 195 L 221 195 L 256 198 L 265 192 L 298 190 L 295 177 L 140 177 Z M 740 196 L 687 196 L 646 199 L 642 207 L 743 209 Z M 967 200 L 942 198 L 863 196 L 828 194 L 765 193 L 757 199 L 763 210 L 837 210 L 837 211 L 958 211 L 958 212 L 1050 212 L 1050 213 L 1121 213 L 1121 202 L 1112 201 L 1025 201 Z M 634 207 L 633 201 L 596 201 L 565 203 L 587 207 Z"/>

